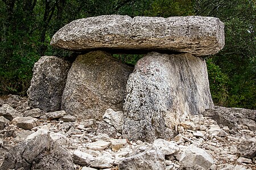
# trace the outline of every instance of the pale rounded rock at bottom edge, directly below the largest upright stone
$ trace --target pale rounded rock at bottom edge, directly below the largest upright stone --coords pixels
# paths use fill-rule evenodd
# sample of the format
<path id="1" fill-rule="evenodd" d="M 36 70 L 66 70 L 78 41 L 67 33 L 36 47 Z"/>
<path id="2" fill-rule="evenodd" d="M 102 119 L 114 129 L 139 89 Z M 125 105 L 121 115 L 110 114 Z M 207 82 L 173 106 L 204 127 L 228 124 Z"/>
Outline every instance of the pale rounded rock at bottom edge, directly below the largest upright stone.
<path id="1" fill-rule="evenodd" d="M 119 170 L 164 170 L 164 155 L 152 145 L 141 145 L 134 148 L 127 158 L 119 160 Z"/>

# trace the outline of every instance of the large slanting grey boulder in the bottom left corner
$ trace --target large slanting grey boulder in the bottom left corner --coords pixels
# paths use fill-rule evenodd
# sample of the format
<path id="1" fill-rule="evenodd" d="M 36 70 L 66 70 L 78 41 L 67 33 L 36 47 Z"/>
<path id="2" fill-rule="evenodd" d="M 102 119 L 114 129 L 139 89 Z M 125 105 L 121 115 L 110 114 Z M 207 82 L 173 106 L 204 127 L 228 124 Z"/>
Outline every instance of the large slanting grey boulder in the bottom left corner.
<path id="1" fill-rule="evenodd" d="M 43 151 L 49 150 L 50 146 L 51 141 L 47 134 L 20 142 L 7 152 L 0 169 L 30 169 L 33 160 Z"/>

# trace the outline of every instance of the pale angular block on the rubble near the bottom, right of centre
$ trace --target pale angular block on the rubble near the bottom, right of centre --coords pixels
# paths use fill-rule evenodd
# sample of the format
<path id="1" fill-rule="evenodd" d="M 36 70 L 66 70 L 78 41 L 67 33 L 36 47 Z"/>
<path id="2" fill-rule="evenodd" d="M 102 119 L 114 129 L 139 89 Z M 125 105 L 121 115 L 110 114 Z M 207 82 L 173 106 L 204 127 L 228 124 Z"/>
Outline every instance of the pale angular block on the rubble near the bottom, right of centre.
<path id="1" fill-rule="evenodd" d="M 181 165 L 191 168 L 198 165 L 203 169 L 209 169 L 213 163 L 214 160 L 209 154 L 207 154 L 207 152 L 194 146 L 193 144 L 188 146 L 188 148 L 181 155 L 180 159 Z"/>

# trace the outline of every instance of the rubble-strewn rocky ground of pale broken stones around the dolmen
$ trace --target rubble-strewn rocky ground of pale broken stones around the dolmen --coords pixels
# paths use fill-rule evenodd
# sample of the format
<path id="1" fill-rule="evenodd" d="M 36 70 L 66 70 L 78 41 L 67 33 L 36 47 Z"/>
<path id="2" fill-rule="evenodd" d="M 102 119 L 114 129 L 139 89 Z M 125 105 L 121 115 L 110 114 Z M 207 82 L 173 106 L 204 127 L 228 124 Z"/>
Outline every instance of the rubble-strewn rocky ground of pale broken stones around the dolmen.
<path id="1" fill-rule="evenodd" d="M 230 121 L 213 112 L 189 116 L 172 141 L 146 143 L 122 139 L 122 112 L 108 109 L 103 121 L 81 121 L 4 96 L 0 169 L 256 169 L 255 111 L 249 117 L 239 111 Z"/>

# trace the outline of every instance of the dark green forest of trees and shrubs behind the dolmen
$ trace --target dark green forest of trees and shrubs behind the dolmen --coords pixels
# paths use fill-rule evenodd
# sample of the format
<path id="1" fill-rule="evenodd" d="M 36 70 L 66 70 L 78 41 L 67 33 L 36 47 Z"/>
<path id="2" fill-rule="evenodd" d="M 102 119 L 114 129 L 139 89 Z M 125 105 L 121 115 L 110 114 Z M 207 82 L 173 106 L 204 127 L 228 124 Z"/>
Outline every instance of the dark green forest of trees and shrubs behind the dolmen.
<path id="1" fill-rule="evenodd" d="M 204 56 L 214 104 L 256 109 L 255 0 L 0 0 L 0 95 L 26 95 L 40 56 L 71 56 L 49 45 L 65 24 L 111 14 L 220 18 L 225 24 L 225 47 Z M 142 57 L 113 56 L 133 65 Z"/>

